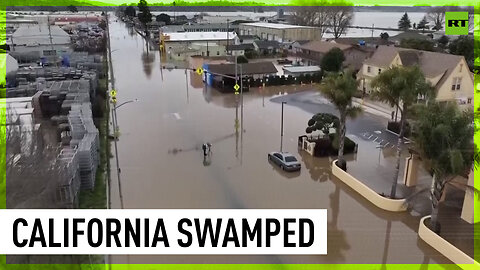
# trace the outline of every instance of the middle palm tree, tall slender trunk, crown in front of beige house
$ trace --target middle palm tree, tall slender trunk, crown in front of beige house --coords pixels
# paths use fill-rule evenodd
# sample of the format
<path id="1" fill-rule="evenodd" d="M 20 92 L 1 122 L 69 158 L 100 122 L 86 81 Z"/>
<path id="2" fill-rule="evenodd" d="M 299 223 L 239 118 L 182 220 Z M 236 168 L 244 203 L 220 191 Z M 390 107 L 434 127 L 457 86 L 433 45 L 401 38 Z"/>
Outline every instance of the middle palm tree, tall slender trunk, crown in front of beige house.
<path id="1" fill-rule="evenodd" d="M 377 75 L 372 80 L 371 97 L 395 106 L 401 113 L 400 132 L 397 141 L 397 163 L 393 176 L 390 198 L 395 198 L 397 179 L 400 174 L 400 160 L 404 141 L 405 122 L 411 105 L 417 102 L 420 96 L 433 96 L 433 87 L 425 80 L 425 76 L 418 66 L 391 67 Z"/>

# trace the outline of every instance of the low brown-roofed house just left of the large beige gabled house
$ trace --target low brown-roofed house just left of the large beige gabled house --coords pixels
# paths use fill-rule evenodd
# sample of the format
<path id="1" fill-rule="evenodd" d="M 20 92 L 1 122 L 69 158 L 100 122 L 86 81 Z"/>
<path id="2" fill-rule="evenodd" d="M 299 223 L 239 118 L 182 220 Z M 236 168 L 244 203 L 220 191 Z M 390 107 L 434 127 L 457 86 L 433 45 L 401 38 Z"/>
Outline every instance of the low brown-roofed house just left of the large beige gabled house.
<path id="1" fill-rule="evenodd" d="M 343 51 L 345 56 L 343 65 L 353 70 L 360 69 L 363 61 L 372 53 L 358 46 L 316 40 L 300 46 L 301 52 L 297 56 L 303 58 L 307 65 L 320 65 L 323 56 L 333 48 L 339 48 Z"/>

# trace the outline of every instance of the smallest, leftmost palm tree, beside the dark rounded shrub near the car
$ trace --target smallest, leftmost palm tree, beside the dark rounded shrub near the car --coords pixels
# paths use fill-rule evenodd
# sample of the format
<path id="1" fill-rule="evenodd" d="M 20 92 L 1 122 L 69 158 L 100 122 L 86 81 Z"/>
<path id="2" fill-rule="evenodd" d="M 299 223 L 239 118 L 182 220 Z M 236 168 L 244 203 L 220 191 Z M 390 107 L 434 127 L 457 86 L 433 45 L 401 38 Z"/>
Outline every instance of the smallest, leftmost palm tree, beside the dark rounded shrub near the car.
<path id="1" fill-rule="evenodd" d="M 337 165 L 347 170 L 347 163 L 343 158 L 345 145 L 345 131 L 347 117 L 355 118 L 362 109 L 352 105 L 352 98 L 357 91 L 358 82 L 353 78 L 350 71 L 344 73 L 332 73 L 327 75 L 319 89 L 320 92 L 337 108 L 340 113 L 340 134 L 338 134 L 338 161 Z"/>

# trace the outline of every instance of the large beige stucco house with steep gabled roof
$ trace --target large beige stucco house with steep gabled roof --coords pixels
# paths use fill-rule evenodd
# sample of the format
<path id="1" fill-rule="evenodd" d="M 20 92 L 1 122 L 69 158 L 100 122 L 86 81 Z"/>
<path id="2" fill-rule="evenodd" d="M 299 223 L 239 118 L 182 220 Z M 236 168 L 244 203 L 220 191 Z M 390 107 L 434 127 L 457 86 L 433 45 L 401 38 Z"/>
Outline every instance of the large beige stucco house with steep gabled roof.
<path id="1" fill-rule="evenodd" d="M 389 67 L 418 65 L 435 87 L 438 102 L 456 102 L 461 108 L 473 108 L 473 75 L 463 56 L 379 46 L 358 71 L 360 90 L 369 93 L 371 80 Z"/>

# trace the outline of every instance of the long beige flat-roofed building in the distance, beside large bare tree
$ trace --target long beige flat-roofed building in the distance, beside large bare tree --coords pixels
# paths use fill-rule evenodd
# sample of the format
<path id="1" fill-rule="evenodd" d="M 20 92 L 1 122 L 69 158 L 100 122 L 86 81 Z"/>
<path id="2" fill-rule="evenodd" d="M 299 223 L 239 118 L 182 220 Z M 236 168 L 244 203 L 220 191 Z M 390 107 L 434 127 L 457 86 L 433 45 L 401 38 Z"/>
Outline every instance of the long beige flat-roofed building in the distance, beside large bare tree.
<path id="1" fill-rule="evenodd" d="M 319 40 L 321 38 L 320 30 L 317 27 L 264 22 L 241 23 L 239 34 L 256 35 L 260 39 L 278 42 Z"/>

